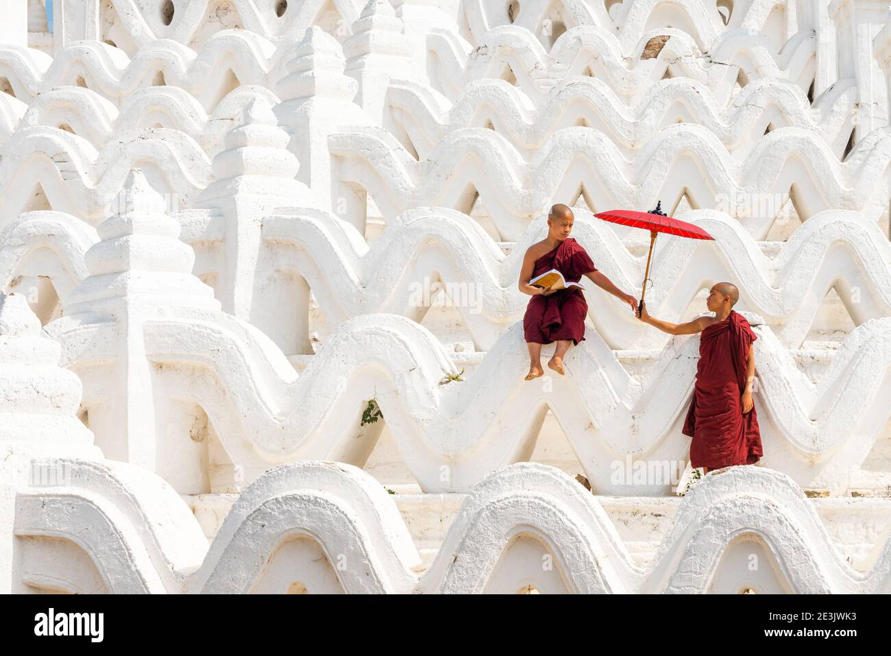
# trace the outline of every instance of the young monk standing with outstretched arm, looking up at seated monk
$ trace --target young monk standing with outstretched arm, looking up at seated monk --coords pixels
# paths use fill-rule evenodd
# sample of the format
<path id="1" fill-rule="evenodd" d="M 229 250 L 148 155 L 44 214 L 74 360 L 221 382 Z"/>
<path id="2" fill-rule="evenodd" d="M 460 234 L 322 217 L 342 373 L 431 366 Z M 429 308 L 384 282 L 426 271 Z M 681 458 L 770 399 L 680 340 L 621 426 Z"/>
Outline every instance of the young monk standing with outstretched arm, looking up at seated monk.
<path id="1" fill-rule="evenodd" d="M 683 422 L 683 434 L 692 438 L 691 467 L 713 469 L 757 463 L 764 455 L 761 433 L 752 401 L 755 382 L 756 334 L 745 317 L 733 311 L 740 291 L 732 283 L 717 283 L 708 292 L 706 306 L 715 316 L 700 316 L 686 324 L 669 324 L 647 314 L 641 320 L 670 335 L 702 332 L 696 388 Z"/>

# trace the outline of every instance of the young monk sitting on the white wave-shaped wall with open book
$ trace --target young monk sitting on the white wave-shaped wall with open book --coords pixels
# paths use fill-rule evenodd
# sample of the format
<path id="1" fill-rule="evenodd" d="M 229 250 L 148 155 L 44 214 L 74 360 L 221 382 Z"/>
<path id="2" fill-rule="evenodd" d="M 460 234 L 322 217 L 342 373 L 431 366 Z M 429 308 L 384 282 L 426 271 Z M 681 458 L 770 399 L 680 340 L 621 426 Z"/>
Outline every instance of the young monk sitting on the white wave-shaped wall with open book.
<path id="1" fill-rule="evenodd" d="M 584 340 L 584 317 L 588 314 L 588 304 L 579 287 L 554 289 L 560 284 L 554 283 L 543 289 L 529 284 L 535 276 L 557 269 L 568 283 L 577 283 L 585 275 L 637 311 L 637 299 L 609 282 L 609 278 L 594 267 L 584 248 L 569 236 L 574 218 L 567 205 L 554 205 L 548 214 L 548 236 L 528 248 L 519 271 L 519 291 L 532 297 L 523 317 L 523 332 L 529 349 L 527 381 L 544 373 L 542 344 L 554 341 L 557 346 L 548 366 L 564 374 L 563 357 L 570 346 Z"/>

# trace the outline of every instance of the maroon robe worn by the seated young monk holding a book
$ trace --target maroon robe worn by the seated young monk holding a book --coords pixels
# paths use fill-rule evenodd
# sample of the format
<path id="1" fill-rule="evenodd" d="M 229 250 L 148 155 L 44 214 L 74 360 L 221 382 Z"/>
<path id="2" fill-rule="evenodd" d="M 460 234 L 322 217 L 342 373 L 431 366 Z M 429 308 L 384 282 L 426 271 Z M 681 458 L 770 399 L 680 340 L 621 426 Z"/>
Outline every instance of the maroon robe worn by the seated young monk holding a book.
<path id="1" fill-rule="evenodd" d="M 597 271 L 587 251 L 572 237 L 567 237 L 551 252 L 535 260 L 532 277 L 557 269 L 568 283 L 577 283 L 584 274 Z M 529 300 L 523 316 L 523 334 L 527 341 L 550 344 L 557 340 L 584 340 L 584 317 L 588 304 L 578 287 L 536 295 Z"/>

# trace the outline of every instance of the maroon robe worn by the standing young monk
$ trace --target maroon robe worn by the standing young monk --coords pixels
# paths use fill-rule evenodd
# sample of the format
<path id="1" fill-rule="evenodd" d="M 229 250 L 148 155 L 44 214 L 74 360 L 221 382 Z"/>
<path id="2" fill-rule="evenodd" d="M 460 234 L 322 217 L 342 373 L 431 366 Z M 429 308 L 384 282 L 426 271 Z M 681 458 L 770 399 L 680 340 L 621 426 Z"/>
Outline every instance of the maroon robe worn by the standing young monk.
<path id="1" fill-rule="evenodd" d="M 691 467 L 752 464 L 764 455 L 755 406 L 742 412 L 748 349 L 756 339 L 746 318 L 733 310 L 701 332 L 696 388 L 683 422 L 683 434 L 692 438 Z"/>

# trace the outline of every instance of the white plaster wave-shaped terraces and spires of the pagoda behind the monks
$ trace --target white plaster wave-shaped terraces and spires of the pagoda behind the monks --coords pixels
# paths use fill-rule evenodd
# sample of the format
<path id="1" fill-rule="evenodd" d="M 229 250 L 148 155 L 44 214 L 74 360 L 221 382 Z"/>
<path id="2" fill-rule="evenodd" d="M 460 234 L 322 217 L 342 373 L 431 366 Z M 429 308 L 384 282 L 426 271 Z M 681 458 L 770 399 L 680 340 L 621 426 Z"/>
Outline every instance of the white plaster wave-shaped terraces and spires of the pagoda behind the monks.
<path id="1" fill-rule="evenodd" d="M 55 6 L 0 15 L 0 592 L 891 592 L 884 5 Z M 759 338 L 764 459 L 683 496 L 698 337 L 588 285 L 523 381 L 552 203 L 639 296 L 593 214 L 657 201 L 715 241 L 650 312 Z"/>

